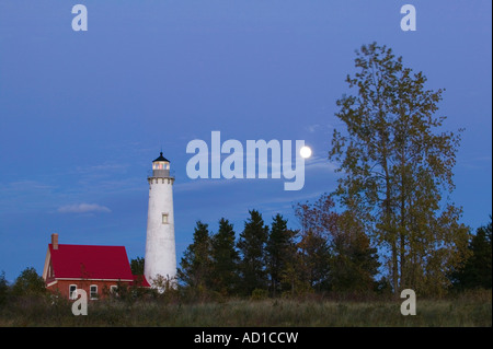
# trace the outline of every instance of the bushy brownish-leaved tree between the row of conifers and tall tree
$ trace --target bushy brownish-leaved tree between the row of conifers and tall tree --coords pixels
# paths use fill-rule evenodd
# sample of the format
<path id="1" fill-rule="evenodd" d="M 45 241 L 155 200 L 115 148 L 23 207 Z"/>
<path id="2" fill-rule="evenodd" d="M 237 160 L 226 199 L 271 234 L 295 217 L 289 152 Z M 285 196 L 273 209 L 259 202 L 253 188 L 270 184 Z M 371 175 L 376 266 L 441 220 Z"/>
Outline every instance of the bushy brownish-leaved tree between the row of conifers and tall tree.
<path id="1" fill-rule="evenodd" d="M 349 211 L 335 212 L 331 195 L 295 206 L 302 225 L 301 275 L 318 290 L 368 291 L 375 284 L 379 261 L 364 224 Z"/>

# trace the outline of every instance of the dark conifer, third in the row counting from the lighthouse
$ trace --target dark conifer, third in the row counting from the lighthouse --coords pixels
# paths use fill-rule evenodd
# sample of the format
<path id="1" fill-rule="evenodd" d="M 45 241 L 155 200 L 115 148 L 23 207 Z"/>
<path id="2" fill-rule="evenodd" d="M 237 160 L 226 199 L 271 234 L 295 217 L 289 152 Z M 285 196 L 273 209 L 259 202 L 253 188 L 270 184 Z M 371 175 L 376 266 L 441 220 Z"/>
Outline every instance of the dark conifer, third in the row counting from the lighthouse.
<path id="1" fill-rule="evenodd" d="M 266 289 L 265 244 L 268 237 L 268 226 L 264 225 L 262 214 L 256 210 L 249 211 L 250 218 L 244 223 L 244 230 L 238 241 L 241 260 L 239 271 L 242 291 L 251 294 L 254 289 Z"/>

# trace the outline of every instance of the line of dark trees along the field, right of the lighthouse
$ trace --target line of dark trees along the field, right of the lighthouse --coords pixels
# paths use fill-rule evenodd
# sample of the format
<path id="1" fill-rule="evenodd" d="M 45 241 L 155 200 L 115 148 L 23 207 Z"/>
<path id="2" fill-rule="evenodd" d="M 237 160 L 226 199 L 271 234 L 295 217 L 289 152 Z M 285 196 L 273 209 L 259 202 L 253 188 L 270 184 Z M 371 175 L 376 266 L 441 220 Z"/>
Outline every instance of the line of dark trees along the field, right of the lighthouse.
<path id="1" fill-rule="evenodd" d="M 280 214 L 266 222 L 257 210 L 249 211 L 239 232 L 226 218 L 217 232 L 197 221 L 180 263 L 180 288 L 196 295 L 253 298 L 395 293 L 380 261 L 382 252 L 351 212 L 337 213 L 334 206 L 330 195 L 297 203 L 297 230 Z M 491 289 L 491 222 L 471 235 L 469 249 L 470 257 L 447 275 L 442 293 Z"/>

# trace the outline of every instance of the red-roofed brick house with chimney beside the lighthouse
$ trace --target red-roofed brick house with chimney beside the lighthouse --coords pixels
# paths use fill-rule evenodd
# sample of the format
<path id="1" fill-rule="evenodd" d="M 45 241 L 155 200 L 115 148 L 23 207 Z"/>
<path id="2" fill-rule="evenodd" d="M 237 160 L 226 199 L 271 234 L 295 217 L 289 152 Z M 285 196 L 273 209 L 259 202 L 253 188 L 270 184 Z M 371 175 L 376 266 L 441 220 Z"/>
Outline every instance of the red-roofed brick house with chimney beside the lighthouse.
<path id="1" fill-rule="evenodd" d="M 58 244 L 51 234 L 43 279 L 46 288 L 69 299 L 77 289 L 90 300 L 104 298 L 118 284 L 149 287 L 144 276 L 134 276 L 124 246 L 93 246 Z"/>

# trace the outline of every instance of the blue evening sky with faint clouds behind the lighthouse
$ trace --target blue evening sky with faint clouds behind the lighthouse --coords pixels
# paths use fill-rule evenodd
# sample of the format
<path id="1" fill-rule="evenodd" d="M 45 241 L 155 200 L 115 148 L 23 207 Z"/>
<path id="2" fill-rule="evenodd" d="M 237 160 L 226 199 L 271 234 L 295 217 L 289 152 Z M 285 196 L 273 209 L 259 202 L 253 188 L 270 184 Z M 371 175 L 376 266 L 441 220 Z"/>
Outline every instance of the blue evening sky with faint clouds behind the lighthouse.
<path id="1" fill-rule="evenodd" d="M 176 252 L 196 220 L 237 235 L 249 209 L 267 223 L 335 188 L 329 163 L 335 101 L 354 51 L 376 40 L 445 88 L 444 130 L 466 128 L 450 200 L 462 222 L 489 221 L 492 202 L 491 1 L 0 0 L 0 270 L 43 269 L 60 243 L 124 245 L 144 256 L 147 172 L 162 150 L 175 171 Z M 403 32 L 412 3 L 417 31 Z M 313 149 L 302 190 L 284 179 L 186 175 L 193 139 L 302 139 Z"/>

